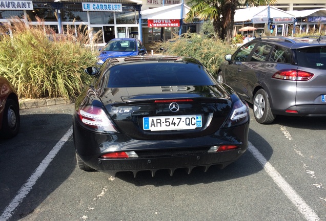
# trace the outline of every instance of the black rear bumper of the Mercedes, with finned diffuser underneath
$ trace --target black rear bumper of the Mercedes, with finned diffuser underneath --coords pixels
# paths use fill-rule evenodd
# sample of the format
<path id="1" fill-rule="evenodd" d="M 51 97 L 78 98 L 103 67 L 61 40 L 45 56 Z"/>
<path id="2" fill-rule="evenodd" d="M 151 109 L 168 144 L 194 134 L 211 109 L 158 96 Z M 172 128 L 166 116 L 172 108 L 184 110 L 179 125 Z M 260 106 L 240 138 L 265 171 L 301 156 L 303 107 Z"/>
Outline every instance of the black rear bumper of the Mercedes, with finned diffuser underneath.
<path id="1" fill-rule="evenodd" d="M 236 161 L 248 147 L 249 122 L 237 127 L 220 129 L 205 137 L 175 140 L 134 140 L 126 135 L 104 135 L 90 132 L 73 123 L 75 149 L 80 159 L 91 168 L 115 176 L 119 171 L 149 170 L 152 175 L 157 170 L 168 169 L 171 175 L 177 168 L 220 165 L 224 168 Z M 236 145 L 238 148 L 209 153 L 211 146 Z M 192 151 L 192 150 L 196 151 Z M 135 151 L 138 158 L 103 159 L 110 152 Z M 146 152 L 146 154 L 143 154 Z M 164 152 L 164 153 L 162 153 Z M 148 154 L 150 153 L 150 154 Z"/>

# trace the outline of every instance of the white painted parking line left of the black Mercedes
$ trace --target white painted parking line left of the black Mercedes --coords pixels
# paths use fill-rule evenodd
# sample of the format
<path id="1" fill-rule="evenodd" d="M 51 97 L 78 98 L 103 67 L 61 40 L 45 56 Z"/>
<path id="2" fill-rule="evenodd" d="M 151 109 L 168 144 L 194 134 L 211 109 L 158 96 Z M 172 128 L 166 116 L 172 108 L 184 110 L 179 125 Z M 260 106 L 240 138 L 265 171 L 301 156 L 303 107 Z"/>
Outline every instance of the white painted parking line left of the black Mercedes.
<path id="1" fill-rule="evenodd" d="M 46 156 L 46 158 L 44 158 L 44 160 L 39 164 L 39 166 L 36 168 L 34 173 L 30 176 L 27 182 L 18 191 L 18 194 L 13 198 L 10 204 L 6 207 L 3 214 L 0 216 L 1 221 L 8 220 L 12 216 L 13 211 L 19 206 L 19 204 L 24 200 L 26 195 L 31 191 L 38 178 L 40 178 L 40 176 L 44 173 L 44 171 L 49 166 L 53 158 L 56 156 L 56 154 L 59 152 L 62 146 L 68 141 L 71 135 L 72 135 L 72 126 L 69 128 L 66 134 L 61 138 L 61 140 L 59 140 L 59 142 L 57 142 L 57 144 L 52 148 L 48 156 Z"/>

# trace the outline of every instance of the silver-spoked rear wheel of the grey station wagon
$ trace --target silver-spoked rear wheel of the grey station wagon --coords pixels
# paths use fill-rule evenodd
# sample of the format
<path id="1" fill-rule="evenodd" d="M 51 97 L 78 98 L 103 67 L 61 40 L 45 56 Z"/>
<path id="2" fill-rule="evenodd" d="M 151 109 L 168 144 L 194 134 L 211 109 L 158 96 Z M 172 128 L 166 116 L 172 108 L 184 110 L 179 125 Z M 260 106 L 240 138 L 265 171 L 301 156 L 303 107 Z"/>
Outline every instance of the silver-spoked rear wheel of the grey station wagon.
<path id="1" fill-rule="evenodd" d="M 270 101 L 267 93 L 259 89 L 254 97 L 254 116 L 258 123 L 269 124 L 275 120 L 275 115 L 271 111 Z"/>

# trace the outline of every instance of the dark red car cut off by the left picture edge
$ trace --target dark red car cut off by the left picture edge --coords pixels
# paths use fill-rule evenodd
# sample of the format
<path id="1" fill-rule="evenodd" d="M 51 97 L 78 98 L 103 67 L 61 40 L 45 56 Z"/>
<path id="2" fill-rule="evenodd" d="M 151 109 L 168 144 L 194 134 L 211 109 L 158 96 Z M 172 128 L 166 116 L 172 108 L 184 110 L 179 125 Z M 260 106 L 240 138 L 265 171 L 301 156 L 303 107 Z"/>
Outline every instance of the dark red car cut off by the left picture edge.
<path id="1" fill-rule="evenodd" d="M 16 136 L 20 126 L 18 96 L 12 84 L 0 76 L 0 137 Z"/>

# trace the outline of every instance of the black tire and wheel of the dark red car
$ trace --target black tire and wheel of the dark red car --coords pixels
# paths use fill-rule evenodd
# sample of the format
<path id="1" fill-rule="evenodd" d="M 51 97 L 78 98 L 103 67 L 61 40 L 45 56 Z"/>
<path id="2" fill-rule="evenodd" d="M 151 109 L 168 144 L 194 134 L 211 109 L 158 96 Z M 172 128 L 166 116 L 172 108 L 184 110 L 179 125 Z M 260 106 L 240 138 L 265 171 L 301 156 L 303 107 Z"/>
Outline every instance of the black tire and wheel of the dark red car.
<path id="1" fill-rule="evenodd" d="M 2 119 L 1 137 L 9 139 L 16 136 L 20 125 L 19 105 L 15 100 L 8 98 Z"/>

